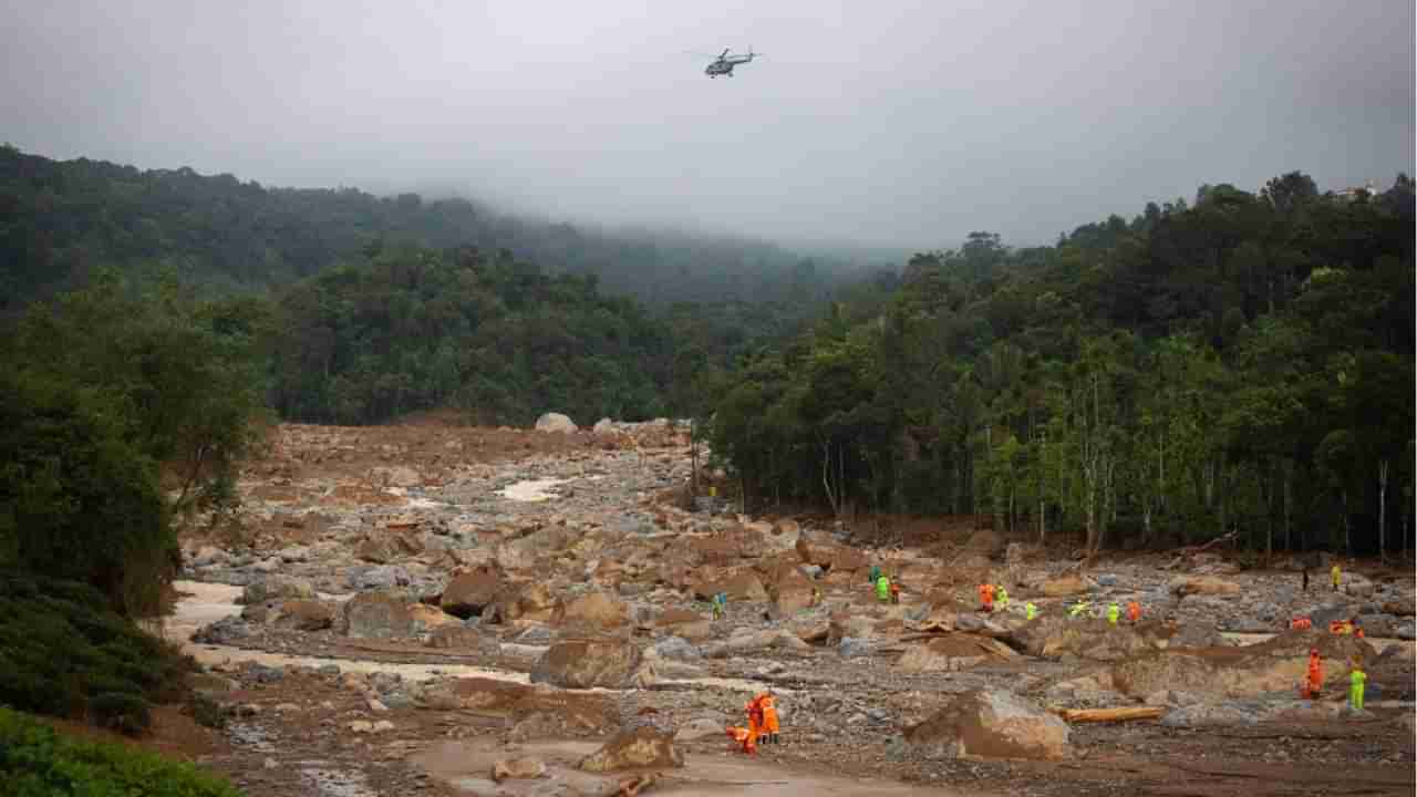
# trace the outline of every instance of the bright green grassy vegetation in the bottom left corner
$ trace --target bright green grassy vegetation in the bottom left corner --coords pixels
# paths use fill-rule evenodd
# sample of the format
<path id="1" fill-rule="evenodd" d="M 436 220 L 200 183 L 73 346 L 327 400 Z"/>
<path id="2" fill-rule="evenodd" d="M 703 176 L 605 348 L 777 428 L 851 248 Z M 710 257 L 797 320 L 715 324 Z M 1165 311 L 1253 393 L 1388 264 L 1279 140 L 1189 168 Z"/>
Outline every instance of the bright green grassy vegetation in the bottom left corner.
<path id="1" fill-rule="evenodd" d="M 239 797 L 197 767 L 123 745 L 85 742 L 0 708 L 0 784 L 13 797 Z"/>

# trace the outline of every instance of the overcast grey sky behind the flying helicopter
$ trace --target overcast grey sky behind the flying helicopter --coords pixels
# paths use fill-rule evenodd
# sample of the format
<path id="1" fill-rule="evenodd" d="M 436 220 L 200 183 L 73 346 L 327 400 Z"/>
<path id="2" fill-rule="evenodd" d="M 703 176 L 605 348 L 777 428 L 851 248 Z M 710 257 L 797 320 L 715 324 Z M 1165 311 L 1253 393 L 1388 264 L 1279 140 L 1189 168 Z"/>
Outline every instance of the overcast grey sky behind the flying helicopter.
<path id="1" fill-rule="evenodd" d="M 0 139 L 784 241 L 1414 165 L 1413 0 L 0 0 Z M 708 79 L 706 58 L 767 58 Z"/>

